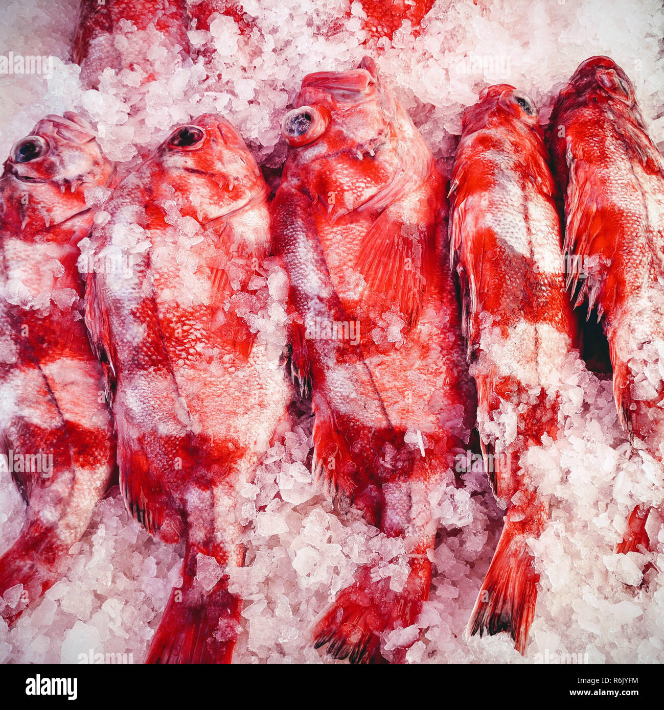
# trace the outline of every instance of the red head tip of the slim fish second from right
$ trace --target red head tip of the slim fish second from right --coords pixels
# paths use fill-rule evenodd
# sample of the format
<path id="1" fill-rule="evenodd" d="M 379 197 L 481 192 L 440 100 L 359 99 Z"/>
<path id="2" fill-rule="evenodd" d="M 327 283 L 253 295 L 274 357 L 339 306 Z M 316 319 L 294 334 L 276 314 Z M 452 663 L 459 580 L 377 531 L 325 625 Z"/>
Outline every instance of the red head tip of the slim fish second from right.
<path id="1" fill-rule="evenodd" d="M 510 124 L 521 131 L 541 132 L 533 99 L 510 84 L 494 84 L 482 89 L 479 101 L 464 111 L 462 128 L 472 133 L 487 126 Z"/>

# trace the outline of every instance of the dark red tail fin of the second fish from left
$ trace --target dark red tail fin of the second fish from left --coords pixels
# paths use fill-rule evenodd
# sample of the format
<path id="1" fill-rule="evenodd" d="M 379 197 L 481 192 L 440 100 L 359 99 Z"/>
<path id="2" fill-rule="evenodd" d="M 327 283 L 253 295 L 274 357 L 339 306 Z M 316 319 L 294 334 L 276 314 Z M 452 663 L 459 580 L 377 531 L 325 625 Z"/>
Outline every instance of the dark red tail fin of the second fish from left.
<path id="1" fill-rule="evenodd" d="M 196 555 L 187 548 L 183 584 L 173 589 L 146 663 L 230 663 L 239 633 L 241 600 L 224 575 L 206 591 L 195 579 Z"/>

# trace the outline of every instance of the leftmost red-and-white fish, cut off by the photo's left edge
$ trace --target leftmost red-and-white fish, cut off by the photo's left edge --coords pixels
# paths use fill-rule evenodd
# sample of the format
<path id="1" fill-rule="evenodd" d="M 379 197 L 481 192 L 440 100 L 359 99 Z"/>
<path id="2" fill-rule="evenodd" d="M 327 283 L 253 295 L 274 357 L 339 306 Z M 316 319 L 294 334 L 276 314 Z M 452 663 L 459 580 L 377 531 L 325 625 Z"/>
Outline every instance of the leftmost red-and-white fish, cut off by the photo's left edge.
<path id="1" fill-rule="evenodd" d="M 77 269 L 77 244 L 93 217 L 84 191 L 107 185 L 113 168 L 92 128 L 71 112 L 46 116 L 31 136 L 43 148 L 18 162 L 17 143 L 0 178 L 0 446 L 5 457 L 47 458 L 12 474 L 28 507 L 18 539 L 0 557 L 0 595 L 23 584 L 18 604 L 1 611 L 10 623 L 62 576 L 115 470 Z M 58 292 L 67 296 L 60 305 L 50 297 Z"/>

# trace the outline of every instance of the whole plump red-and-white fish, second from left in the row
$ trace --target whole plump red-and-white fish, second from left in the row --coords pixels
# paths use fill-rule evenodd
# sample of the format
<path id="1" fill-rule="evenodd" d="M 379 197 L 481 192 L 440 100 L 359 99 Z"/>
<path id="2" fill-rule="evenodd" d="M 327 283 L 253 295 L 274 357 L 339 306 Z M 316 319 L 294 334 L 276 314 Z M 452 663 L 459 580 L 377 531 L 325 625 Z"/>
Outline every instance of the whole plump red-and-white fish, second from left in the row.
<path id="1" fill-rule="evenodd" d="M 191 146 L 173 143 L 192 131 L 201 137 Z M 267 197 L 242 138 L 207 114 L 175 129 L 121 182 L 104 207 L 109 222 L 93 235 L 97 254 L 136 256 L 129 278 L 98 269 L 87 291 L 87 322 L 109 363 L 121 490 L 149 532 L 186 543 L 183 586 L 151 663 L 230 662 L 239 629 L 241 600 L 227 574 L 244 557 L 236 488 L 254 474 L 291 393 L 241 317 L 258 298 L 251 275 L 268 266 Z M 200 238 L 190 243 L 177 220 Z M 222 568 L 212 589 L 196 577 L 199 555 Z"/>

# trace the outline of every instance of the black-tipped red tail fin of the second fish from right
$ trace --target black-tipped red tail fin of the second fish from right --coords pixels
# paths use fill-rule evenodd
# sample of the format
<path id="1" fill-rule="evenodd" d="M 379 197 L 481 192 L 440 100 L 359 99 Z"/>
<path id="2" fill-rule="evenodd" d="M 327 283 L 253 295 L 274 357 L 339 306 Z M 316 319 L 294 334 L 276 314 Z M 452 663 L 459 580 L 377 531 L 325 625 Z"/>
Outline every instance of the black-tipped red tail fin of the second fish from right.
<path id="1" fill-rule="evenodd" d="M 521 655 L 526 652 L 540 579 L 527 537 L 506 520 L 466 628 L 467 638 L 506 631 Z"/>

